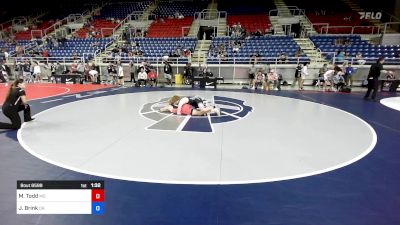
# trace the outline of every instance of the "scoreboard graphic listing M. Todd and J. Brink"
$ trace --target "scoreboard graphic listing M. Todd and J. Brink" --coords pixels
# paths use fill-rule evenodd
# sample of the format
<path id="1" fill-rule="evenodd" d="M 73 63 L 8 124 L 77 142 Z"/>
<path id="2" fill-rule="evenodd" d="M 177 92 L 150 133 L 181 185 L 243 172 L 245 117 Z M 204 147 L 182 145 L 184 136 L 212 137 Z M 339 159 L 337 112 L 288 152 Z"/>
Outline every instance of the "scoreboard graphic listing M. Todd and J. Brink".
<path id="1" fill-rule="evenodd" d="M 104 181 L 17 181 L 17 214 L 104 214 Z"/>

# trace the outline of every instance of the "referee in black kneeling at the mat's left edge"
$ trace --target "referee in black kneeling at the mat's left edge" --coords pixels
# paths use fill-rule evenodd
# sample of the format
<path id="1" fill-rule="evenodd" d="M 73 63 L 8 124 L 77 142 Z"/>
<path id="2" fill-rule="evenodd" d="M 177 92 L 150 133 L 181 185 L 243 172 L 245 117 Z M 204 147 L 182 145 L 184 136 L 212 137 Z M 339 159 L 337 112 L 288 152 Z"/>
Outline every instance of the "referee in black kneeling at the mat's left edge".
<path id="1" fill-rule="evenodd" d="M 21 128 L 21 118 L 18 114 L 20 111 L 24 111 L 25 122 L 34 120 L 34 118 L 31 117 L 31 108 L 28 105 L 28 99 L 26 98 L 25 83 L 23 79 L 17 79 L 13 82 L 8 90 L 2 110 L 4 115 L 11 120 L 11 124 L 0 122 L 0 129 L 18 130 Z"/>

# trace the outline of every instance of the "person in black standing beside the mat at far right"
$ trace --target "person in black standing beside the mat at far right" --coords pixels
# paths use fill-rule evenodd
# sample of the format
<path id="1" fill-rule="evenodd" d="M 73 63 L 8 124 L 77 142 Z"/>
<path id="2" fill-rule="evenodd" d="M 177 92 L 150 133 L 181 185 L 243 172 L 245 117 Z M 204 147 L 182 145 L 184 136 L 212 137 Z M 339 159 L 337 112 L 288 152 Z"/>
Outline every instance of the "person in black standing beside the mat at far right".
<path id="1" fill-rule="evenodd" d="M 379 87 L 379 76 L 382 73 L 389 73 L 389 71 L 383 70 L 383 63 L 385 62 L 384 57 L 379 57 L 379 59 L 376 61 L 375 64 L 371 65 L 371 68 L 369 69 L 368 73 L 368 90 L 367 93 L 364 96 L 364 99 L 367 100 L 369 98 L 369 95 L 372 92 L 372 100 L 376 101 L 376 93 L 378 92 L 378 87 Z"/>

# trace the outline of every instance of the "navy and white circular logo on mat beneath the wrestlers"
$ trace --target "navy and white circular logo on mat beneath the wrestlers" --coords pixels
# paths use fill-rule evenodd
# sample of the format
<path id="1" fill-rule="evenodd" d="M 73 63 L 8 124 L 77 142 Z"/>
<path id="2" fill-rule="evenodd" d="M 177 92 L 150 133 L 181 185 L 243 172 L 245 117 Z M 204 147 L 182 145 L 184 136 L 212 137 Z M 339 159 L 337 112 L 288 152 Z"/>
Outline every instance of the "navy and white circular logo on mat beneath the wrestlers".
<path id="1" fill-rule="evenodd" d="M 214 96 L 214 104 L 220 108 L 221 115 L 210 116 L 180 116 L 170 113 L 160 113 L 159 109 L 167 104 L 169 98 L 144 104 L 140 114 L 152 121 L 147 130 L 177 131 L 177 132 L 213 132 L 213 124 L 233 122 L 246 117 L 253 107 L 244 104 L 243 100 Z"/>

